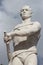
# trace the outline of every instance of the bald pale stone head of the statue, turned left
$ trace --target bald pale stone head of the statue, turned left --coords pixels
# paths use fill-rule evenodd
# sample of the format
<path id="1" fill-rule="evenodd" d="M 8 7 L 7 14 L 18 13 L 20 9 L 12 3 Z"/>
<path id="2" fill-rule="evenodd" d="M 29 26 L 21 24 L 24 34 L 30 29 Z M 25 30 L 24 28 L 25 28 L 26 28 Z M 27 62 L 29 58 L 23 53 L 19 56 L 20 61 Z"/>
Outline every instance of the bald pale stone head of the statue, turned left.
<path id="1" fill-rule="evenodd" d="M 32 15 L 32 10 L 28 5 L 25 5 L 21 10 L 20 10 L 20 16 L 23 20 L 30 18 Z"/>

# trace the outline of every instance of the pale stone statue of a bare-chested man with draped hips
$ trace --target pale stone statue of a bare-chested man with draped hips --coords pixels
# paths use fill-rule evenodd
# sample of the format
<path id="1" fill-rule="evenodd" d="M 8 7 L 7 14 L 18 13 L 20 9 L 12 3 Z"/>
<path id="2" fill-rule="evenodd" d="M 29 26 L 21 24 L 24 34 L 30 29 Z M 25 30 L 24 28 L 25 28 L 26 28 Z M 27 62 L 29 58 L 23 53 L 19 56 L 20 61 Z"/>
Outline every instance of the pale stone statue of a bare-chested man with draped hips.
<path id="1" fill-rule="evenodd" d="M 14 42 L 14 52 L 9 65 L 37 65 L 36 46 L 40 38 L 41 25 L 38 21 L 31 21 L 32 10 L 28 5 L 20 10 L 20 16 L 22 23 L 4 36 L 5 42 Z"/>

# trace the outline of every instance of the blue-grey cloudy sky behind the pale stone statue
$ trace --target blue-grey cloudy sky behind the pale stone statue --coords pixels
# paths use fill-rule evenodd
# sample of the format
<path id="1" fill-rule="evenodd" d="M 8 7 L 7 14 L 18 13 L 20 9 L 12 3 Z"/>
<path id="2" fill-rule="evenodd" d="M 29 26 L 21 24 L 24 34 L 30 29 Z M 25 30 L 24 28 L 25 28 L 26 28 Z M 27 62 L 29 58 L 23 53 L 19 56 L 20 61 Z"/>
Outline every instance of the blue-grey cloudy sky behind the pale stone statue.
<path id="1" fill-rule="evenodd" d="M 43 57 L 43 0 L 0 0 L 0 64 L 7 65 L 8 63 L 3 33 L 11 31 L 15 25 L 21 23 L 19 12 L 24 5 L 32 8 L 32 20 L 41 23 L 41 38 L 37 50 L 38 55 Z"/>

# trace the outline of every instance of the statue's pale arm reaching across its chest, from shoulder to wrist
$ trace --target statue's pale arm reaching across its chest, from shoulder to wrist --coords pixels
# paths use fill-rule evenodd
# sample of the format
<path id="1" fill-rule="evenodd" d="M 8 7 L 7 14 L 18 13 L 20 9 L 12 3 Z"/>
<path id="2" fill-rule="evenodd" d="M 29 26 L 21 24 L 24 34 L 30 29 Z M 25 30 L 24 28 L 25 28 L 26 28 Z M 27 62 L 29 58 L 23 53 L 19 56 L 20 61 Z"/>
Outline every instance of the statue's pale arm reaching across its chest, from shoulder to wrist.
<path id="1" fill-rule="evenodd" d="M 25 36 L 25 35 L 31 35 L 35 32 L 40 31 L 40 30 L 41 30 L 40 23 L 35 22 L 32 25 L 27 26 L 27 28 L 24 27 L 24 28 L 21 28 L 20 30 L 16 29 L 15 31 L 12 31 L 12 32 L 8 33 L 8 35 L 11 36 L 11 37 L 13 37 L 14 35 Z"/>

